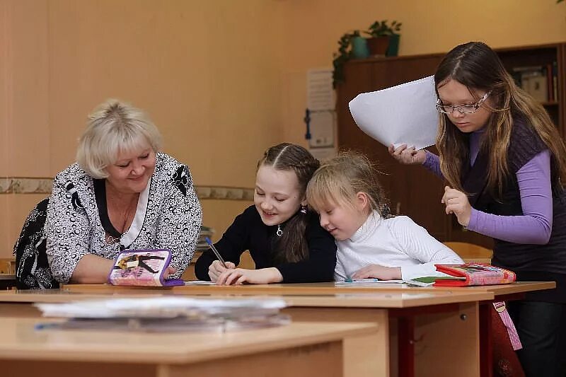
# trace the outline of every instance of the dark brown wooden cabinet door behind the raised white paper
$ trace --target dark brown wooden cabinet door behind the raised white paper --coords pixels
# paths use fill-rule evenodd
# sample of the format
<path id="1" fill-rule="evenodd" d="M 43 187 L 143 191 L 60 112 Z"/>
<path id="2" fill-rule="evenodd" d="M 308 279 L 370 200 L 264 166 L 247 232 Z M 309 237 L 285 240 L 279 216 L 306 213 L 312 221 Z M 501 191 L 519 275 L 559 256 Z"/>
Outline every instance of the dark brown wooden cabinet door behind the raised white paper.
<path id="1" fill-rule="evenodd" d="M 346 81 L 339 91 L 339 98 L 347 101 L 359 93 L 377 91 L 407 81 L 434 74 L 441 55 L 398 59 L 373 60 L 368 63 L 352 63 L 345 67 Z M 342 102 L 344 103 L 344 102 Z M 397 163 L 387 147 L 364 134 L 352 120 L 347 106 L 337 111 L 338 142 L 340 148 L 355 149 L 366 153 L 383 172 L 380 177 L 393 214 L 410 216 L 439 240 L 447 239 L 449 218 L 440 203 L 444 185 L 442 181 L 422 166 L 403 166 Z M 408 109 L 410 111 L 410 109 Z"/>

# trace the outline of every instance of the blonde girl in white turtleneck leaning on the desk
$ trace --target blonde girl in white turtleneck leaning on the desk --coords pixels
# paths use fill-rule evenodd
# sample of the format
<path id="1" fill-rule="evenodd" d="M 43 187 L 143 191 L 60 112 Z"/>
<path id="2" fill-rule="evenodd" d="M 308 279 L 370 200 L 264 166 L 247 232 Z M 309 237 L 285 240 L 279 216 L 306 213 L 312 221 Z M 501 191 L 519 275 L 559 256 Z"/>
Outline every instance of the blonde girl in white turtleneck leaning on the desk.
<path id="1" fill-rule="evenodd" d="M 463 263 L 409 217 L 389 214 L 377 175 L 366 156 L 343 152 L 308 182 L 308 204 L 336 239 L 335 279 L 408 280 L 438 275 L 435 263 Z"/>

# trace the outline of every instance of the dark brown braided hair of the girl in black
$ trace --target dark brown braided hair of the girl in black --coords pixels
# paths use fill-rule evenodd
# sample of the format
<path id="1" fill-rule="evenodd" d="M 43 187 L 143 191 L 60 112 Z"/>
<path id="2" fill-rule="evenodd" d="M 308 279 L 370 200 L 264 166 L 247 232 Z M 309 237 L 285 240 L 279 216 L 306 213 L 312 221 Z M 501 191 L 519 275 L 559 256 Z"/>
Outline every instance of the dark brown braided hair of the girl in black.
<path id="1" fill-rule="evenodd" d="M 282 143 L 265 151 L 263 157 L 258 161 L 258 168 L 264 165 L 276 170 L 293 171 L 299 181 L 299 195 L 304 197 L 308 180 L 320 166 L 320 162 L 302 146 Z M 299 208 L 296 210 L 299 211 Z M 284 232 L 277 243 L 276 260 L 299 262 L 308 257 L 306 224 L 306 214 L 297 214 L 287 221 Z"/>

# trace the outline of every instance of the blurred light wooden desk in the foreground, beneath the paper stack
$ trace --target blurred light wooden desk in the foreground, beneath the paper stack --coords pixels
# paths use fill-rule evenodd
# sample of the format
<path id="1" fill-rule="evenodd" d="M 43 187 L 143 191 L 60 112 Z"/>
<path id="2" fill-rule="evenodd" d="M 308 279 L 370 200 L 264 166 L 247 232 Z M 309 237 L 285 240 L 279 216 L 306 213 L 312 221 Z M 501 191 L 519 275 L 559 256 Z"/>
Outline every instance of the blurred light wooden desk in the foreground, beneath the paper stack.
<path id="1" fill-rule="evenodd" d="M 2 318 L 3 376 L 386 376 L 379 327 L 368 323 L 226 333 L 34 330 L 45 321 Z"/>

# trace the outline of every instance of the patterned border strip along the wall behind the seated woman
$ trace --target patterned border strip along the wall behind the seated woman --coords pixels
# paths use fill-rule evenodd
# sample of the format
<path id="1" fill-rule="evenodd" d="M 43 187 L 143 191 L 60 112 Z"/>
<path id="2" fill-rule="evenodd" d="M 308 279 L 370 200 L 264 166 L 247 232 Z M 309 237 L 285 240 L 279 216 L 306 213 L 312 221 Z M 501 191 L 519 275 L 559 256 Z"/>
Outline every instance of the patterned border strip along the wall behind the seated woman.
<path id="1" fill-rule="evenodd" d="M 0 178 L 0 194 L 51 194 L 52 178 Z M 253 201 L 253 189 L 246 187 L 195 186 L 199 199 Z"/>

